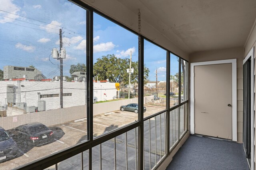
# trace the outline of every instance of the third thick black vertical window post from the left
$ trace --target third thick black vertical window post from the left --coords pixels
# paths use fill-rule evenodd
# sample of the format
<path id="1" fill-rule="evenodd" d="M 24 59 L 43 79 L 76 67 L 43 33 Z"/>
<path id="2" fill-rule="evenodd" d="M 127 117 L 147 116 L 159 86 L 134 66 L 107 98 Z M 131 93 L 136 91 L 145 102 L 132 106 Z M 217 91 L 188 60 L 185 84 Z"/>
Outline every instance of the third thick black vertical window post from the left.
<path id="1" fill-rule="evenodd" d="M 166 122 L 165 152 L 169 153 L 169 150 L 170 150 L 170 51 L 166 51 L 166 109 L 167 111 L 166 111 L 166 120 L 165 120 Z M 162 157 L 162 148 L 161 148 L 161 157 Z"/>

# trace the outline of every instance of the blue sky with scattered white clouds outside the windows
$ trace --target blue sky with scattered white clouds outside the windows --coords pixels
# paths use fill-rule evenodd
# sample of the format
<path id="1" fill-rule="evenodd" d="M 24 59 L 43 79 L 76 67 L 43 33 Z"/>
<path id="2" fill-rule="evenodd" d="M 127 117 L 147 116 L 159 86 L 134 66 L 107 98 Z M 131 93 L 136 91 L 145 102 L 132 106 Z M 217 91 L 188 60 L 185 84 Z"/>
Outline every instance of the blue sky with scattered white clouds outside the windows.
<path id="1" fill-rule="evenodd" d="M 86 11 L 67 0 L 0 0 L 0 69 L 6 65 L 34 65 L 53 78 L 59 75 L 52 48 L 59 49 L 59 29 L 63 32 L 64 75 L 71 64 L 86 63 Z M 9 13 L 8 13 L 9 12 Z M 143 32 L 143 27 L 142 27 Z M 102 55 L 129 57 L 138 61 L 138 37 L 115 23 L 94 14 L 94 62 Z M 145 42 L 144 63 L 148 79 L 166 80 L 166 51 Z M 171 56 L 171 74 L 178 72 L 176 56 Z"/>

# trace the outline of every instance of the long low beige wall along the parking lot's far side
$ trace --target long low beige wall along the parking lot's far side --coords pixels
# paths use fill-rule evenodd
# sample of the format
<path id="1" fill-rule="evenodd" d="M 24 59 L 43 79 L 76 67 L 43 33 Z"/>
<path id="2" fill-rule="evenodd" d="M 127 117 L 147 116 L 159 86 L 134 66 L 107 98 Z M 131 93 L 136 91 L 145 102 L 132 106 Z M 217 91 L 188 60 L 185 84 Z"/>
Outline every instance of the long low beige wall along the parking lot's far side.
<path id="1" fill-rule="evenodd" d="M 154 96 L 147 96 L 147 98 Z M 146 97 L 144 97 L 144 101 Z M 108 113 L 120 109 L 120 106 L 130 103 L 138 103 L 138 98 L 117 100 L 113 102 L 104 102 L 93 104 L 93 115 Z M 146 104 L 146 102 L 144 102 Z M 17 117 L 17 122 L 14 122 L 14 117 Z M 8 117 L 0 117 L 0 127 L 4 129 L 13 129 L 19 125 L 32 122 L 40 122 L 46 126 L 58 125 L 68 121 L 74 121 L 86 117 L 86 105 L 67 107 L 62 109 L 53 109 L 40 111 L 35 113 L 26 113 L 22 115 L 14 115 Z"/>

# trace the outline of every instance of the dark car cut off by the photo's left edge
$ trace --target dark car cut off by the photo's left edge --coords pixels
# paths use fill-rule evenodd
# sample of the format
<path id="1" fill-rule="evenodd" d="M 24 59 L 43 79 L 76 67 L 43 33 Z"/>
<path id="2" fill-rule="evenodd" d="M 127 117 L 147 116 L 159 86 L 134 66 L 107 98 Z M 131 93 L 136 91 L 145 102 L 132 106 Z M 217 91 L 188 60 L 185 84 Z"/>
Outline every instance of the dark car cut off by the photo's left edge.
<path id="1" fill-rule="evenodd" d="M 14 158 L 18 154 L 16 142 L 9 133 L 0 127 L 0 162 Z"/>

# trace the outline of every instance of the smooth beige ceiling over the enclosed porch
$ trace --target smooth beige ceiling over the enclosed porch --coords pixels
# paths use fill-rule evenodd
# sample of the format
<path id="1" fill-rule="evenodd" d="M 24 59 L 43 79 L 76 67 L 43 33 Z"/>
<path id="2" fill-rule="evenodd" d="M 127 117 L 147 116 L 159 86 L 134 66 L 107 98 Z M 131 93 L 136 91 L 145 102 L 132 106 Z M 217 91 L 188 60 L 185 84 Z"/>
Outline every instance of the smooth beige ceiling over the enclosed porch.
<path id="1" fill-rule="evenodd" d="M 255 0 L 118 0 L 187 53 L 244 46 Z M 146 29 L 142 25 L 143 29 Z"/>

